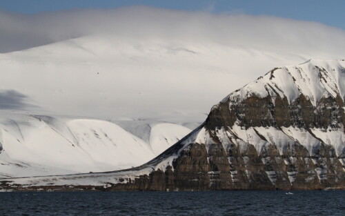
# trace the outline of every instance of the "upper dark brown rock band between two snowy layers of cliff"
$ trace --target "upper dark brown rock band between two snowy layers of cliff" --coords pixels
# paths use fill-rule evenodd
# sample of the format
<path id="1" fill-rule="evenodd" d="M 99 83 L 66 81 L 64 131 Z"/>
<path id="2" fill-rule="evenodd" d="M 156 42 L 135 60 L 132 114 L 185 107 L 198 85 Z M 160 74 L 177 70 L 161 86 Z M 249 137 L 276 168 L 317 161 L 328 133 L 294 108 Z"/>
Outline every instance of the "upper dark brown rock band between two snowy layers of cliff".
<path id="1" fill-rule="evenodd" d="M 275 98 L 275 104 L 270 96 L 248 97 L 239 104 L 230 103 L 228 99 L 211 110 L 206 120 L 206 128 L 214 130 L 222 126 L 233 126 L 237 120 L 239 126 L 246 128 L 339 128 L 339 124 L 344 123 L 343 107 L 344 102 L 339 96 L 322 98 L 317 106 L 313 106 L 310 99 L 304 95 L 297 97 L 293 104 L 288 104 L 286 97 L 279 96 Z"/>

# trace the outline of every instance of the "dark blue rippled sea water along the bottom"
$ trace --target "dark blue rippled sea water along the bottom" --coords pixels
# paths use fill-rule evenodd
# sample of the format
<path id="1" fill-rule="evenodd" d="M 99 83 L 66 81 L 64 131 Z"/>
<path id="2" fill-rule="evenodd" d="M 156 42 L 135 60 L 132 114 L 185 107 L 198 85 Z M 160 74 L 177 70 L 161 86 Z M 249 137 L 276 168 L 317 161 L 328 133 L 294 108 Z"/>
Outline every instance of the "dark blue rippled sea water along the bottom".
<path id="1" fill-rule="evenodd" d="M 345 215 L 345 191 L 0 193 L 0 215 Z"/>

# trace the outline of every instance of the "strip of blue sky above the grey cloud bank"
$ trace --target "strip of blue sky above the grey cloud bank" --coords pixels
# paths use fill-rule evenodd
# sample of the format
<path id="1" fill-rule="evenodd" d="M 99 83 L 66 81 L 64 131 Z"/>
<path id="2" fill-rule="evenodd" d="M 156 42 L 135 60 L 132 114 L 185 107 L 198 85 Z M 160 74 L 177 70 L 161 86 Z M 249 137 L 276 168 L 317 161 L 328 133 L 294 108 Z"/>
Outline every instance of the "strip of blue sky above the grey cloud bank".
<path id="1" fill-rule="evenodd" d="M 206 11 L 216 14 L 265 14 L 288 19 L 316 21 L 328 26 L 345 29 L 345 1 L 343 0 L 1 0 L 0 10 L 34 14 L 82 8 L 114 9 L 135 5 L 173 10 Z"/>

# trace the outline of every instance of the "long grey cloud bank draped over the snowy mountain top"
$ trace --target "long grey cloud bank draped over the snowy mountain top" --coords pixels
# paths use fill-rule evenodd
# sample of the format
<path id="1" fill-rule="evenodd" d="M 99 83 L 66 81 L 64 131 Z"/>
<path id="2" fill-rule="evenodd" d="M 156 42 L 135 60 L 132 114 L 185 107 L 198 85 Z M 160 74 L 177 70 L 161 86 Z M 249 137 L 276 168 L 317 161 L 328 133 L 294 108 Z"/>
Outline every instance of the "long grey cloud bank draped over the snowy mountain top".
<path id="1" fill-rule="evenodd" d="M 0 12 L 0 52 L 86 35 L 117 39 L 211 41 L 275 52 L 343 53 L 345 31 L 321 23 L 246 14 L 212 14 L 144 6 L 32 15 Z"/>

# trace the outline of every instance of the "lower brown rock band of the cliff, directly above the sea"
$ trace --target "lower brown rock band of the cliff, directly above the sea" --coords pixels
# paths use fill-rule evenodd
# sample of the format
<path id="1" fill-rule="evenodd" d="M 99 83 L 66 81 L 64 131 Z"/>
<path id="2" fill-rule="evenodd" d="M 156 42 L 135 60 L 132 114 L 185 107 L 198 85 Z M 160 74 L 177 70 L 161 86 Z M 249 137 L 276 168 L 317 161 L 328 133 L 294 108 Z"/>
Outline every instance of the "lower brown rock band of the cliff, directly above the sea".
<path id="1" fill-rule="evenodd" d="M 221 144 L 206 151 L 202 144 L 191 144 L 176 159 L 174 170 L 156 170 L 128 184 L 110 190 L 319 190 L 344 189 L 345 173 L 339 159 L 322 146 L 319 157 L 306 155 L 303 146 L 279 155 L 269 146 L 266 155 L 258 155 L 253 145 L 245 153 L 237 146 L 226 152 Z M 313 162 L 315 160 L 316 162 Z M 287 161 L 287 163 L 285 162 Z M 322 172 L 318 177 L 317 171 Z M 321 177 L 321 178 L 320 178 Z M 291 182 L 294 179 L 293 182 Z"/>

